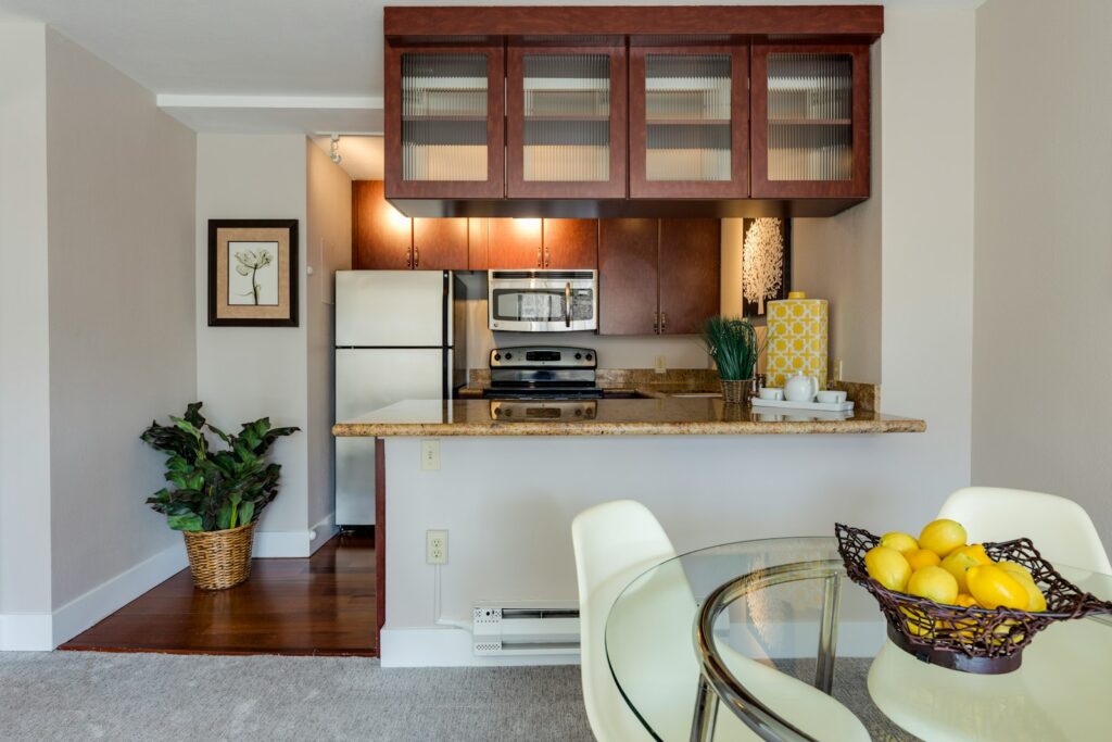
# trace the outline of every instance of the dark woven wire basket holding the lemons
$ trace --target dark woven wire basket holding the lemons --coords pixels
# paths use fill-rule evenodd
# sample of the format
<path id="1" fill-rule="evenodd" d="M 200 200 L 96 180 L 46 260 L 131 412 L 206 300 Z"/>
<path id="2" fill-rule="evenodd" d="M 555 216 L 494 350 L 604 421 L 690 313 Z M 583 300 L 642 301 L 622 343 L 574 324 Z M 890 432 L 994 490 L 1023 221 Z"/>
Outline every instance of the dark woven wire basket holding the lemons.
<path id="1" fill-rule="evenodd" d="M 1011 561 L 1031 571 L 1046 597 L 1037 613 L 1012 609 L 942 605 L 881 585 L 865 570 L 865 553 L 880 537 L 841 523 L 834 526 L 846 574 L 876 598 L 892 643 L 929 664 L 997 675 L 1016 670 L 1034 635 L 1059 621 L 1112 613 L 1112 603 L 1084 592 L 1054 570 L 1030 538 L 984 544 L 994 562 Z"/>

